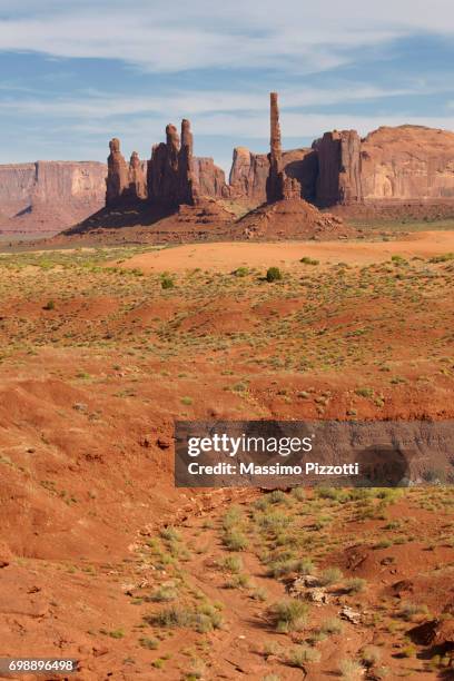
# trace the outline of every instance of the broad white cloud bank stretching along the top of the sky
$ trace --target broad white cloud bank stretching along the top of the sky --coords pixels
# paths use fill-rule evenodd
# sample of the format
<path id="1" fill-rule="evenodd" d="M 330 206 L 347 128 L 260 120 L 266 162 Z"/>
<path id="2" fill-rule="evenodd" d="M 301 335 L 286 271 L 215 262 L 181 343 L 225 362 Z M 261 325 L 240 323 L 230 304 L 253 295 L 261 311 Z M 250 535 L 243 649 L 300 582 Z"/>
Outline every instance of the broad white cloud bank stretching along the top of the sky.
<path id="1" fill-rule="evenodd" d="M 0 49 L 120 59 L 150 71 L 279 67 L 305 72 L 415 31 L 454 32 L 451 0 L 3 0 Z"/>

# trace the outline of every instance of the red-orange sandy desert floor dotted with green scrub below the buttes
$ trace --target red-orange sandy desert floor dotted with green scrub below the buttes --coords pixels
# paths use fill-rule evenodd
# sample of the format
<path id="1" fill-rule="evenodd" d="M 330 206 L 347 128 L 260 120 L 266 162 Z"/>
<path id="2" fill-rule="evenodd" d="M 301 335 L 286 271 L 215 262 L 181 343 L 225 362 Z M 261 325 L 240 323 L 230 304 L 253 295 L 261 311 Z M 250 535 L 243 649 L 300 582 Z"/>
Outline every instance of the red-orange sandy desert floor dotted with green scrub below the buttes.
<path id="1" fill-rule="evenodd" d="M 172 427 L 453 418 L 453 282 L 452 230 L 0 254 L 3 653 L 452 679 L 452 487 L 176 490 Z"/>

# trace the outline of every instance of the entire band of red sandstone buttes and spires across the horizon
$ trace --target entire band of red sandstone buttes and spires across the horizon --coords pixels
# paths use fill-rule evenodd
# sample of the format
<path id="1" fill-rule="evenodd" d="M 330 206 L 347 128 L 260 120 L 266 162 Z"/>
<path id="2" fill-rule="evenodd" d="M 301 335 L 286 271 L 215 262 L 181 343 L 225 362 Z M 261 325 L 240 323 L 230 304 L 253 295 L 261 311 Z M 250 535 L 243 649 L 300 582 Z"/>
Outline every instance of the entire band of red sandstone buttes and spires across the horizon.
<path id="1" fill-rule="evenodd" d="M 103 205 L 146 201 L 195 205 L 203 198 L 259 206 L 303 198 L 318 207 L 406 214 L 411 206 L 454 213 L 454 132 L 422 126 L 325 132 L 312 147 L 284 150 L 277 95 L 270 97 L 270 151 L 234 149 L 229 184 L 211 158 L 194 156 L 190 124 L 172 125 L 151 158 L 129 164 L 112 139 L 107 172 L 95 161 L 37 161 L 0 166 L 0 229 L 56 230 Z M 106 178 L 107 175 L 107 178 Z"/>

